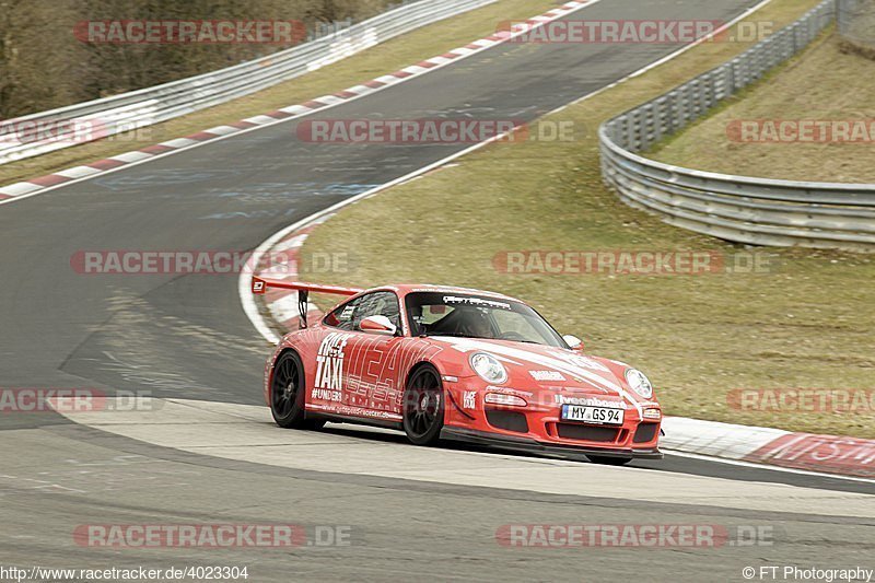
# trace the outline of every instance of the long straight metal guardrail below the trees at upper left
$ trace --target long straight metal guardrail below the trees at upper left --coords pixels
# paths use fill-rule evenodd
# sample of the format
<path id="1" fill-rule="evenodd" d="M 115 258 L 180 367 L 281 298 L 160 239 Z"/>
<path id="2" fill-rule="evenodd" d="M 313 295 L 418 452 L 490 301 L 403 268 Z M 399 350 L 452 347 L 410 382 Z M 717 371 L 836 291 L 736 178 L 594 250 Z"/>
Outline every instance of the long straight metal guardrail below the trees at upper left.
<path id="1" fill-rule="evenodd" d="M 305 44 L 219 71 L 110 97 L 18 117 L 2 125 L 0 164 L 166 121 L 255 93 L 408 33 L 497 0 L 418 0 Z M 20 128 L 48 128 L 20 141 Z M 34 139 L 31 139 L 34 138 Z"/>

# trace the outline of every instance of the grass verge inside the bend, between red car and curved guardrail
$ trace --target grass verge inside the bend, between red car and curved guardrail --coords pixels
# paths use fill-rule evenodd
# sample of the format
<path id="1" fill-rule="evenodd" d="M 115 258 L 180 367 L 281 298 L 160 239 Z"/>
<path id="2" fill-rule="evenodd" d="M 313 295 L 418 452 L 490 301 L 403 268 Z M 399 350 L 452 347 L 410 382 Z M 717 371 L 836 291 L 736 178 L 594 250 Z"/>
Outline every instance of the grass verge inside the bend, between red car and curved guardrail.
<path id="1" fill-rule="evenodd" d="M 774 0 L 751 20 L 783 25 L 814 0 Z M 598 124 L 703 72 L 744 44 L 704 44 L 550 116 Z M 371 225 L 381 225 L 371 229 Z M 354 254 L 327 279 L 419 281 L 502 291 L 530 302 L 587 351 L 649 373 L 670 415 L 875 438 L 875 412 L 767 412 L 728 404 L 733 389 L 875 388 L 870 256 L 772 249 L 765 273 L 508 275 L 508 250 L 744 249 L 623 206 L 602 183 L 594 131 L 572 142 L 497 143 L 352 205 L 306 241 Z"/>

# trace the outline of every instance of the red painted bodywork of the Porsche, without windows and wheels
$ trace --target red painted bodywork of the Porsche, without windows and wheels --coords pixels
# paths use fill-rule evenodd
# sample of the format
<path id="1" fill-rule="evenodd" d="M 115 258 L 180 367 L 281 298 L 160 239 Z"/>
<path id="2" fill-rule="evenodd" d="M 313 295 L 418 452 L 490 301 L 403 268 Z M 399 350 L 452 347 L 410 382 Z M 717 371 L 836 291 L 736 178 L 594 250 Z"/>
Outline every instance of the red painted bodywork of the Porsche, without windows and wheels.
<path id="1" fill-rule="evenodd" d="M 268 282 L 269 287 L 275 287 Z M 293 289 L 307 288 L 296 284 Z M 323 287 L 324 289 L 325 287 Z M 342 291 L 340 291 L 342 290 Z M 336 293 L 350 295 L 352 289 Z M 625 378 L 626 364 L 585 355 L 576 350 L 510 340 L 468 338 L 438 338 L 409 336 L 409 324 L 404 310 L 405 296 L 413 291 L 468 293 L 485 298 L 517 301 L 505 295 L 463 288 L 436 285 L 390 285 L 362 291 L 390 291 L 401 305 L 404 336 L 383 336 L 362 331 L 345 331 L 323 324 L 311 323 L 307 328 L 287 334 L 267 361 L 265 369 L 265 400 L 270 404 L 270 386 L 276 359 L 285 350 L 295 350 L 303 363 L 306 377 L 305 407 L 308 415 L 342 417 L 359 422 L 400 428 L 401 405 L 406 380 L 411 370 L 430 363 L 442 376 L 445 394 L 444 429 L 476 438 L 521 440 L 545 446 L 580 448 L 638 457 L 660 457 L 657 442 L 662 410 L 655 398 L 643 398 L 632 390 Z M 358 295 L 358 294 L 357 294 Z M 350 298 L 345 298 L 343 302 Z M 342 302 L 341 302 L 342 303 Z M 340 305 L 340 304 L 338 304 Z M 337 390 L 315 388 L 316 359 L 319 347 L 329 335 L 345 335 L 342 339 L 342 381 Z M 337 339 L 337 336 L 332 337 Z M 337 343 L 337 342 L 336 342 Z M 491 386 L 471 369 L 468 357 L 472 351 L 490 352 L 502 357 L 508 369 L 508 381 Z M 537 380 L 549 376 L 550 380 Z M 561 378 L 560 378 L 561 377 Z M 474 396 L 471 397 L 471 393 Z M 526 401 L 525 407 L 490 405 L 488 393 L 515 395 Z M 598 399 L 625 407 L 620 427 L 595 425 L 560 420 L 560 400 Z M 583 401 L 578 401 L 583 403 Z M 645 409 L 658 411 L 657 419 L 643 419 Z M 494 411 L 516 411 L 525 416 L 527 430 L 512 431 L 495 427 L 489 416 Z M 499 413 L 501 415 L 501 413 Z M 561 424 L 588 430 L 573 430 L 573 436 L 560 435 Z M 646 425 L 646 427 L 644 427 Z M 639 432 L 639 428 L 641 431 Z M 614 430 L 612 432 L 610 430 Z M 635 440 L 652 434 L 646 441 Z M 590 439 L 597 434 L 597 439 Z M 482 441 L 482 440 L 472 440 Z"/>

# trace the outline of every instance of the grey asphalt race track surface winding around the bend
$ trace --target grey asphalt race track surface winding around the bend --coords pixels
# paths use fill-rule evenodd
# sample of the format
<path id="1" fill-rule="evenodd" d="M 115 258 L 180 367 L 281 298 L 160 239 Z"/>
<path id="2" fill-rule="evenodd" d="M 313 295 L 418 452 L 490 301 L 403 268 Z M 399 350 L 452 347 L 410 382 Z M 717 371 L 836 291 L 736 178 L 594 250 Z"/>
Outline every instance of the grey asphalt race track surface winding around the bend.
<path id="1" fill-rule="evenodd" d="M 567 18 L 730 20 L 754 3 L 604 0 Z M 677 48 L 505 44 L 307 119 L 528 120 Z M 249 565 L 250 581 L 382 580 L 388 572 L 703 581 L 743 580 L 746 565 L 873 567 L 871 482 L 674 456 L 604 468 L 456 446 L 423 452 L 400 435 L 346 425 L 281 431 L 247 407 L 261 405 L 268 347 L 241 308 L 236 277 L 71 269 L 82 249 L 254 248 L 292 222 L 467 147 L 303 143 L 295 126 L 0 206 L 0 386 L 149 390 L 206 404 L 167 418 L 176 405 L 166 401 L 163 418 L 116 425 L 0 416 L 0 565 Z M 220 413 L 211 407 L 230 407 L 242 421 L 213 422 Z M 222 448 L 226 442 L 236 448 Z M 565 478 L 552 483 L 551 468 Z M 108 550 L 79 547 L 71 536 L 82 524 L 205 522 L 348 525 L 352 545 Z M 548 523 L 768 526 L 774 540 L 696 549 L 497 543 L 502 525 Z"/>

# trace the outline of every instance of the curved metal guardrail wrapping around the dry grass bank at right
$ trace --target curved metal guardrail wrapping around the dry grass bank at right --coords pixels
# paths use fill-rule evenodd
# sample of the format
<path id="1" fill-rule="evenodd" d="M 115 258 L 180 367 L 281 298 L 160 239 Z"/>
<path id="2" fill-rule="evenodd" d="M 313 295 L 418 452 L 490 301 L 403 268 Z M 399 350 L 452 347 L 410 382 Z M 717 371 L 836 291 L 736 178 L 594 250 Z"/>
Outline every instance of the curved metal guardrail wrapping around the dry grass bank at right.
<path id="1" fill-rule="evenodd" d="M 599 145 L 605 183 L 630 206 L 727 241 L 875 248 L 875 185 L 732 176 L 663 164 L 635 153 L 702 117 L 801 51 L 835 15 L 835 0 L 827 0 L 730 62 L 603 124 Z"/>

